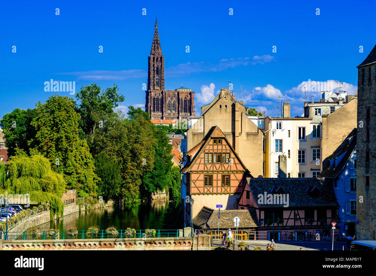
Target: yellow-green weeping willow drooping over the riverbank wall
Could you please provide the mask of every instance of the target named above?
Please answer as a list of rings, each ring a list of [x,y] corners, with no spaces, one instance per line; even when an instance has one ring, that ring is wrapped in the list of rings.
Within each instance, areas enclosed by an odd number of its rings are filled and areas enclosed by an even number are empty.
[[[0,169],[1,170],[1,169]],[[9,175],[1,193],[30,195],[30,201],[50,202],[50,218],[61,217],[64,203],[61,197],[65,192],[66,182],[63,176],[53,172],[50,161],[42,155],[14,156],[9,160]]]

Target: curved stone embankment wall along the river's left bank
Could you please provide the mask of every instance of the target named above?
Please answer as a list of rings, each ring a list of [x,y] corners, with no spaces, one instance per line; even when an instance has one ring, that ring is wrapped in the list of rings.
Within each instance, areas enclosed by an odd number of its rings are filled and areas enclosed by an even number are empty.
[[[90,206],[88,209],[109,207],[112,205],[113,205],[113,201],[108,201],[107,203],[105,202],[97,203],[93,206]],[[72,203],[64,207],[64,216],[75,213],[75,212],[79,212],[79,211],[85,211],[85,210],[86,210],[85,205],[82,205],[81,210],[80,210],[79,205],[77,205],[76,203]],[[56,216],[55,216],[55,219],[56,219]],[[49,210],[43,211],[41,213],[27,217],[21,222],[18,222],[12,229],[9,229],[8,231],[9,232],[24,232],[31,227],[38,226],[38,225],[41,225],[42,223],[46,223],[49,221],[50,221],[50,211]]]

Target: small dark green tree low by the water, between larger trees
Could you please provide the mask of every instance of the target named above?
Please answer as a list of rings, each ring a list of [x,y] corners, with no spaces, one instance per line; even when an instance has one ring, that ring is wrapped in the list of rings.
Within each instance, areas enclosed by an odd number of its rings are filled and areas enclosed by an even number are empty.
[[[96,173],[102,179],[98,185],[98,195],[107,201],[115,199],[120,190],[120,166],[116,161],[111,161],[104,154],[100,154],[96,160]]]

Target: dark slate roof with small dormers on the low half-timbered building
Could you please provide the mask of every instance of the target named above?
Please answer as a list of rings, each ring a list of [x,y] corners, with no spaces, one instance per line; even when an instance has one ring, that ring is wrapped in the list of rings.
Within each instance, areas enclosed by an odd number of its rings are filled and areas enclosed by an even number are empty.
[[[258,195],[271,194],[274,187],[281,186],[289,195],[288,207],[338,206],[332,181],[323,178],[247,178],[247,182],[255,198]],[[309,192],[317,186],[321,191],[318,196]],[[311,188],[311,189],[308,189]],[[259,204],[259,207],[283,207],[281,204]]]

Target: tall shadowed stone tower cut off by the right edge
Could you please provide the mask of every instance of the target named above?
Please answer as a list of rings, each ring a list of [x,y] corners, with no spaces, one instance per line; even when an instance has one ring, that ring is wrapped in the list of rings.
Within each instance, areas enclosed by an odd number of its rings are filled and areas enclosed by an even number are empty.
[[[376,231],[376,45],[358,68],[356,145],[357,240],[375,240]],[[360,198],[359,198],[360,197]]]

